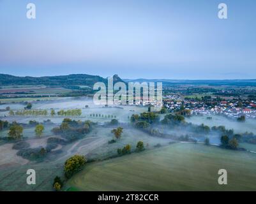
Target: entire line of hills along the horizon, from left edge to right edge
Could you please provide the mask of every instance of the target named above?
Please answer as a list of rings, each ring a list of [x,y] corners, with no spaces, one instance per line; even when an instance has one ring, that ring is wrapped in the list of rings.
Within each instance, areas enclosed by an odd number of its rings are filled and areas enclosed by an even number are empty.
[[[167,80],[167,79],[144,79],[136,80],[121,79],[118,75],[113,76],[114,84],[116,82],[162,82],[166,85],[237,85],[237,86],[256,86],[256,79],[246,80]],[[15,77],[13,75],[0,74],[0,86],[3,85],[54,85],[54,86],[72,86],[87,85],[93,87],[96,82],[107,84],[107,78],[96,75],[64,75],[54,77]]]

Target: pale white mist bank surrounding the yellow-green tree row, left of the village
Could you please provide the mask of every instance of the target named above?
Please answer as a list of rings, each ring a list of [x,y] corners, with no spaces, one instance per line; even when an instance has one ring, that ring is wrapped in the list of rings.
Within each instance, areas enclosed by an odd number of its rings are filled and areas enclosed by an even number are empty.
[[[121,106],[121,105],[111,105],[105,107],[104,105],[95,105],[92,98],[87,97],[77,97],[77,98],[61,98],[57,100],[49,101],[33,101],[33,110],[47,110],[47,116],[38,116],[36,120],[43,122],[46,118],[54,123],[61,123],[63,117],[56,115],[55,117],[50,116],[50,110],[53,109],[56,112],[59,110],[68,110],[68,109],[81,109],[82,115],[79,117],[70,117],[72,119],[88,119],[93,122],[106,122],[113,118],[119,120],[119,122],[128,122],[132,114],[146,112],[147,107],[142,106]],[[7,106],[10,106],[11,110],[24,110],[26,107],[25,103],[9,103],[0,105],[0,109],[5,109]],[[0,117],[10,121],[19,121],[19,122],[29,122],[29,120],[34,119],[33,116],[10,116],[8,111],[0,112]]]

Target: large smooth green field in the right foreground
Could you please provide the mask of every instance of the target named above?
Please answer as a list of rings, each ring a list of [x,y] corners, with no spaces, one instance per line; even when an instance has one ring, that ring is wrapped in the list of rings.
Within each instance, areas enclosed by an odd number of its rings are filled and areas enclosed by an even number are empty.
[[[176,143],[87,164],[66,187],[81,191],[255,191],[256,154]],[[218,184],[218,170],[228,185]]]

